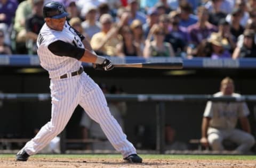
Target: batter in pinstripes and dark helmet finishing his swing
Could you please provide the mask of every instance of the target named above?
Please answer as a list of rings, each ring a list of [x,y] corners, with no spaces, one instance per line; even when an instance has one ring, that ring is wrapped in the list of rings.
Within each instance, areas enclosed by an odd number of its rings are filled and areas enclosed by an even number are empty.
[[[108,140],[121,152],[125,161],[141,163],[142,158],[110,114],[101,89],[81,65],[82,62],[94,63],[95,68],[108,71],[113,69],[113,64],[107,58],[91,52],[88,41],[66,21],[68,13],[62,4],[45,4],[43,14],[45,24],[37,39],[37,53],[41,66],[49,72],[51,79],[51,120],[20,150],[17,161],[27,161],[29,156],[49,144],[66,127],[79,104],[100,124]]]

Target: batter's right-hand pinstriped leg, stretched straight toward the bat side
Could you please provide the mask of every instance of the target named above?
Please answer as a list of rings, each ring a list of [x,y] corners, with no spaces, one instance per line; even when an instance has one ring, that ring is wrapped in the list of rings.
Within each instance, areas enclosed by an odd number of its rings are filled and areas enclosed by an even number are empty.
[[[86,82],[84,82],[85,86],[79,104],[91,119],[100,124],[108,140],[118,152],[121,152],[124,158],[136,154],[134,146],[126,139],[122,128],[111,115],[100,87],[86,74],[83,75],[83,78]]]

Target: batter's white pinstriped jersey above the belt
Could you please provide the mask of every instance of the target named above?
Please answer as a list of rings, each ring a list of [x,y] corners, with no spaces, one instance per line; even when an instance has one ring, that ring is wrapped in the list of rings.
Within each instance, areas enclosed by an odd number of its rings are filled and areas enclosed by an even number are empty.
[[[50,78],[60,77],[67,72],[77,71],[82,64],[82,62],[76,60],[76,58],[54,55],[48,49],[48,46],[57,40],[62,40],[77,47],[84,48],[81,39],[77,36],[74,29],[69,26],[67,21],[62,31],[50,29],[45,23],[38,35],[37,54],[41,66],[49,72]]]

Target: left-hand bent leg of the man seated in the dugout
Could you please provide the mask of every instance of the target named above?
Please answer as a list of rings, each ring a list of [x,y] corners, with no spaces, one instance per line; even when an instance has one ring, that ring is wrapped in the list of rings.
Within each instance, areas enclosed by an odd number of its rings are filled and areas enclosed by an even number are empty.
[[[215,128],[209,128],[207,131],[207,139],[209,142],[209,145],[211,146],[212,150],[221,151],[224,150],[224,147],[222,145],[223,140],[223,133]]]

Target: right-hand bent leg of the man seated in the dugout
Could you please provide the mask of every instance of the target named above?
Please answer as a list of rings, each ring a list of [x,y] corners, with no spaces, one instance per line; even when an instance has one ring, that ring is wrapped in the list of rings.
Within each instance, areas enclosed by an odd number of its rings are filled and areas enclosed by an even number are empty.
[[[239,129],[231,131],[229,139],[238,145],[236,150],[242,153],[249,152],[255,143],[255,139],[250,133]]]

